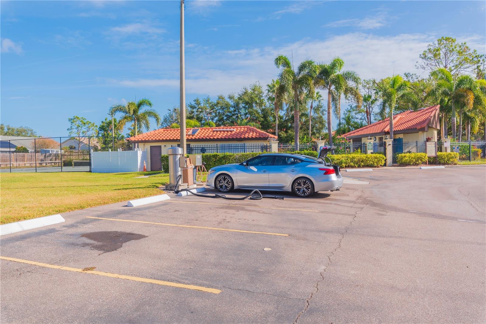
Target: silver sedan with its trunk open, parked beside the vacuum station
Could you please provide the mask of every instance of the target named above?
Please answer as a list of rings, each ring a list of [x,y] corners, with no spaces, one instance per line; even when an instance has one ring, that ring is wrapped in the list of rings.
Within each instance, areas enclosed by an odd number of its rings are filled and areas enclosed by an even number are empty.
[[[315,191],[343,186],[339,167],[307,155],[267,153],[240,164],[225,164],[208,171],[208,186],[221,192],[232,189],[293,191],[307,197]]]

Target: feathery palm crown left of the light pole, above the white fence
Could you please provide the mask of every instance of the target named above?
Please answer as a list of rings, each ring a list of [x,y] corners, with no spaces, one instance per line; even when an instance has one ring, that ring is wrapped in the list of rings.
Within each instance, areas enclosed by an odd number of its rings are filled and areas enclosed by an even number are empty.
[[[127,122],[131,122],[135,136],[138,131],[143,132],[144,129],[150,129],[150,119],[155,119],[157,127],[160,125],[160,115],[155,109],[145,109],[144,107],[152,107],[152,102],[148,99],[140,99],[138,102],[127,102],[125,105],[114,104],[110,108],[110,114],[122,113],[121,119],[118,121],[118,129],[121,131]]]

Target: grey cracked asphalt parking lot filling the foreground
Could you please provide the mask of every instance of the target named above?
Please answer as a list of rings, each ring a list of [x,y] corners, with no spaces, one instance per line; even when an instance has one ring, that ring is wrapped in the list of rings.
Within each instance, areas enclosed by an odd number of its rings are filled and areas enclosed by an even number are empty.
[[[171,193],[2,236],[0,321],[485,323],[486,168],[344,173],[369,184]]]

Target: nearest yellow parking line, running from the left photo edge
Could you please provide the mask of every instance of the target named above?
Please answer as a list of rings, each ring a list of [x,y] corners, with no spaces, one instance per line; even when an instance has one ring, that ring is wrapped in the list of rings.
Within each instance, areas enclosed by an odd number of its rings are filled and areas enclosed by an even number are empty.
[[[123,275],[123,274],[117,274],[117,273],[107,273],[107,272],[94,271],[94,270],[83,271],[83,269],[70,268],[70,267],[64,267],[64,266],[56,266],[56,265],[53,265],[53,264],[47,264],[47,263],[42,263],[42,262],[35,262],[35,261],[17,259],[15,257],[0,256],[0,259],[2,259],[2,260],[8,260],[8,261],[14,261],[14,262],[20,262],[20,263],[32,264],[32,265],[39,266],[39,267],[53,268],[53,269],[67,270],[67,271],[74,271],[74,272],[81,272],[81,273],[97,274],[97,275],[103,275],[105,277],[119,278],[119,279],[127,279],[127,280],[139,281],[139,282],[146,282],[146,283],[149,283],[149,284],[156,284],[156,285],[162,285],[162,286],[171,286],[171,287],[176,287],[176,288],[186,288],[186,289],[199,290],[199,291],[211,292],[211,293],[220,293],[222,291],[222,290],[214,289],[214,288],[207,288],[207,287],[202,287],[202,286],[179,284],[179,283],[171,282],[171,281],[164,281],[164,280],[157,280],[157,279],[134,277],[132,275]]]

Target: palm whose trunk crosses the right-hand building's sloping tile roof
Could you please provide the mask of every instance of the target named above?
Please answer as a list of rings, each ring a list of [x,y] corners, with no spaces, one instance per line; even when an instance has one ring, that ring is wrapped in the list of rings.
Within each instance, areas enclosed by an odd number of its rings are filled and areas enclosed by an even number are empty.
[[[397,99],[410,93],[410,83],[399,75],[386,78],[380,84],[376,84],[382,96],[382,110],[388,111],[390,119],[390,139],[393,139],[393,109],[397,105]]]

